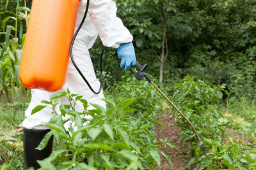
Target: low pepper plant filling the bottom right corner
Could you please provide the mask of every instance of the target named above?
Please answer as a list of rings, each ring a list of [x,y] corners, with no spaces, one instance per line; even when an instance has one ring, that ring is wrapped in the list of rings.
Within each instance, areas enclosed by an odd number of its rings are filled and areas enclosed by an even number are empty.
[[[243,145],[236,139],[228,139],[223,143],[221,139],[203,138],[207,146],[207,152],[196,153],[196,157],[189,160],[189,164],[200,162],[200,169],[255,169],[255,147]],[[199,147],[196,149],[200,150]]]

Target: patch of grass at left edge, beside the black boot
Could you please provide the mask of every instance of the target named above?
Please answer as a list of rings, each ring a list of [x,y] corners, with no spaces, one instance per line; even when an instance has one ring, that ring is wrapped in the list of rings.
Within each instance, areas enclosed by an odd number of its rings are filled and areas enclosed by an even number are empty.
[[[15,99],[13,103],[0,101],[0,165],[9,164],[8,169],[25,169],[23,154],[24,111],[30,97]]]

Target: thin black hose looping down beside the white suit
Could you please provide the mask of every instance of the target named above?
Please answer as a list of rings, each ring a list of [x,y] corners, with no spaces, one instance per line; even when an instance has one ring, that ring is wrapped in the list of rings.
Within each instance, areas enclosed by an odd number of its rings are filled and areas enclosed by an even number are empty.
[[[70,45],[70,59],[72,60],[72,63],[74,64],[74,66],[76,67],[78,73],[81,75],[81,77],[83,78],[83,80],[85,81],[85,83],[88,85],[88,87],[90,88],[90,90],[92,90],[92,92],[94,94],[99,94],[101,89],[102,89],[102,84],[103,84],[103,81],[102,81],[102,55],[104,53],[104,50],[106,50],[106,46],[104,46],[104,48],[102,49],[102,52],[100,53],[100,88],[98,90],[98,92],[95,92],[93,89],[92,89],[92,86],[90,85],[90,83],[86,80],[86,78],[84,77],[83,73],[80,71],[79,67],[76,65],[76,62],[73,58],[73,54],[72,54],[72,48],[73,48],[73,45],[74,45],[74,41],[76,39],[76,36],[78,34],[78,32],[80,31],[81,27],[83,26],[84,24],[84,20],[86,18],[86,15],[88,13],[88,9],[89,9],[89,3],[90,3],[90,0],[87,0],[87,4],[86,4],[86,10],[84,12],[84,17],[83,17],[83,20],[81,21],[81,24],[79,25],[79,27],[77,28],[75,34],[74,34],[74,37],[72,39],[72,42],[71,42],[71,45]]]

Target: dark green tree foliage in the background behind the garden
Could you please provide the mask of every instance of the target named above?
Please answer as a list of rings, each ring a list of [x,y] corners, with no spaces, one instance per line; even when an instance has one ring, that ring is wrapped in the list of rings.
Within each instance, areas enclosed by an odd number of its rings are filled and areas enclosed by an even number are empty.
[[[153,50],[161,50],[164,25],[161,13],[168,11],[166,87],[170,89],[184,76],[199,76],[198,79],[211,84],[227,83],[231,96],[255,98],[255,0],[117,0],[116,3],[118,17],[134,36],[137,60],[147,63],[148,73],[156,78],[160,62]],[[115,59],[116,56],[111,57],[106,65],[112,67],[111,75],[120,80],[122,73],[118,72]]]

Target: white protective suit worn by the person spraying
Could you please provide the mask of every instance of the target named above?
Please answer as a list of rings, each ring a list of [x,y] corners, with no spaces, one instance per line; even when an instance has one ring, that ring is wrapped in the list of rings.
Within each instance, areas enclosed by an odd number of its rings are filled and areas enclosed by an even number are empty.
[[[76,29],[83,19],[85,7],[86,4],[85,6],[82,6],[81,3],[79,3]],[[99,89],[100,83],[95,76],[88,49],[92,48],[98,34],[103,45],[108,47],[118,48],[121,43],[129,43],[132,41],[132,35],[124,27],[120,18],[116,17],[116,10],[114,1],[91,0],[86,20],[74,42],[74,60],[95,90]],[[104,98],[102,91],[100,94],[93,94],[86,83],[84,83],[83,78],[81,78],[71,60],[68,64],[67,80],[60,91],[67,89],[74,94],[84,96],[84,99],[86,99],[88,103],[99,104],[106,108],[106,103],[101,100]],[[22,127],[35,130],[49,129],[45,123],[49,122],[53,116],[52,109],[47,107],[33,115],[31,115],[31,111],[36,106],[42,105],[41,101],[49,101],[52,94],[52,92],[47,92],[45,90],[31,90],[31,103],[29,103],[28,109],[25,111],[26,119],[22,122]],[[61,99],[61,103],[67,103],[67,100]],[[93,107],[89,106],[88,110],[90,109],[93,109]],[[76,110],[82,111],[83,104],[77,103]]]

